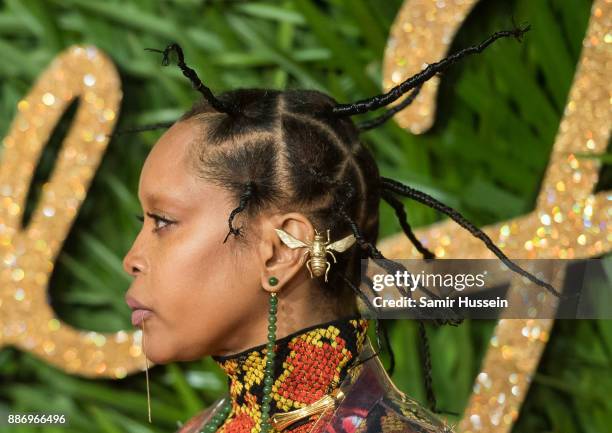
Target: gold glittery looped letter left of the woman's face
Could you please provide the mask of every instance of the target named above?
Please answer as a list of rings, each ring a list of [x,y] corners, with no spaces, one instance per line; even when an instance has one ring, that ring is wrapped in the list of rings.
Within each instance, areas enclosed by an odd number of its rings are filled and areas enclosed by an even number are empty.
[[[25,199],[56,123],[80,98],[71,129],[26,227]],[[67,372],[123,378],[144,368],[141,332],[98,333],[62,322],[47,303],[55,260],[106,150],[122,98],[114,65],[93,46],[58,55],[4,138],[0,161],[0,347],[13,345]]]

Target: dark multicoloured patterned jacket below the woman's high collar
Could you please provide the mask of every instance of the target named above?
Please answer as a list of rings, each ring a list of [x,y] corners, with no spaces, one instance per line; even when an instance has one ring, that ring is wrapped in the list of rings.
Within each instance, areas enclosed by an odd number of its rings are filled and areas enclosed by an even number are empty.
[[[453,433],[443,419],[397,389],[378,357],[371,357],[374,353],[366,338],[359,359],[367,361],[346,376],[339,386],[344,398],[318,415],[308,433]],[[176,433],[200,432],[227,398],[219,398]],[[283,433],[291,431],[289,426]]]

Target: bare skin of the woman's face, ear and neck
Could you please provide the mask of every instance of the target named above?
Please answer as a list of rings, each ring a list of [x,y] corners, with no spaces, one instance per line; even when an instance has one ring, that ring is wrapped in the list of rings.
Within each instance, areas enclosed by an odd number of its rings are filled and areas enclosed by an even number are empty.
[[[339,317],[322,308],[329,304],[310,278],[304,249],[290,249],[274,231],[312,240],[314,227],[304,214],[269,210],[248,226],[236,218],[247,243],[232,235],[223,243],[237,201],[191,168],[190,146],[201,139],[198,122],[177,122],[147,156],[138,186],[144,224],[123,260],[134,277],[126,298],[152,311],[144,319],[145,349],[159,364],[265,344],[270,292],[279,298],[277,338]]]

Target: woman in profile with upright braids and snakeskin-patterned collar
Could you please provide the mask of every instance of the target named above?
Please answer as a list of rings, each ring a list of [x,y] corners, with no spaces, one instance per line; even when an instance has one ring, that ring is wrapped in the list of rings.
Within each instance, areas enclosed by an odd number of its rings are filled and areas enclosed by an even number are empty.
[[[164,64],[177,52],[204,99],[172,124],[143,166],[138,196],[146,217],[124,259],[134,276],[126,300],[148,359],[212,355],[229,391],[179,432],[451,431],[393,385],[357,299],[364,298],[361,259],[384,258],[375,247],[381,198],[396,210],[400,194],[460,216],[381,178],[350,116],[410,89],[413,99],[462,55],[524,31],[497,32],[385,95],[346,105],[311,90],[238,89],[217,97],[178,45],[163,52]],[[296,248],[315,236],[342,241],[333,258]]]

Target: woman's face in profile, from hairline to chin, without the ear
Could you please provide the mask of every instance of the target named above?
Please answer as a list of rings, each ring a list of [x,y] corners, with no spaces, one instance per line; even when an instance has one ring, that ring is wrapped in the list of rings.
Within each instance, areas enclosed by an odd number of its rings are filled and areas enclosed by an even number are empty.
[[[185,159],[199,136],[193,120],[178,122],[149,153],[138,186],[144,223],[123,261],[134,277],[126,300],[151,310],[145,349],[155,363],[240,349],[230,334],[249,341],[252,324],[265,319],[259,263],[241,259],[248,252],[233,235],[223,243],[237,203]]]

